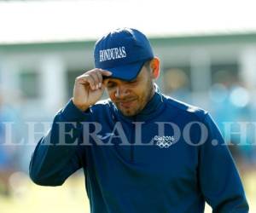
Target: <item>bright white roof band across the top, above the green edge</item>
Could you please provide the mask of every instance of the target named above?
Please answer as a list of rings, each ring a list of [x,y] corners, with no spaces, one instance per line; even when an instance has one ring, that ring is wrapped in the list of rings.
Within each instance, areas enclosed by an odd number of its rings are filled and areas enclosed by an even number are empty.
[[[148,37],[256,32],[252,2],[185,0],[11,1],[0,3],[0,44],[96,40],[114,28]]]

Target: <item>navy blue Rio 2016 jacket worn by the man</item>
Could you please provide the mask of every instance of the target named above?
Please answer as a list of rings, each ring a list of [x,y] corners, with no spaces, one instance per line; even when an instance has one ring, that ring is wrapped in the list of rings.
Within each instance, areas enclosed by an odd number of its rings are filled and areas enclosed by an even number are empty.
[[[80,168],[91,213],[201,213],[205,201],[216,213],[248,212],[236,165],[210,115],[160,92],[134,117],[109,100],[86,112],[69,101],[38,142],[30,176],[59,186]]]

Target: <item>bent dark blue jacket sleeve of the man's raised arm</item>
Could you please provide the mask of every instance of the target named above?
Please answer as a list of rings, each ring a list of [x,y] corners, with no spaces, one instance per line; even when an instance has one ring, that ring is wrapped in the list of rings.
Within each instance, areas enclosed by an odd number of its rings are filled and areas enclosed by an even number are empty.
[[[32,154],[29,166],[32,181],[42,186],[60,186],[68,176],[85,166],[80,122],[86,116],[88,114],[75,107],[73,101],[55,115],[51,129]]]

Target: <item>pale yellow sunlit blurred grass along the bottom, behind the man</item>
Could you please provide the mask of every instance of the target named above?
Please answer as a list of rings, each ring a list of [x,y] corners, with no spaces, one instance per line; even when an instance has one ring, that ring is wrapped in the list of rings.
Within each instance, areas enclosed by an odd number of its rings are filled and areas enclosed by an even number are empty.
[[[242,176],[247,199],[250,203],[250,212],[256,212],[253,200],[256,200],[256,171]],[[73,176],[61,187],[39,187],[29,178],[16,173],[10,178],[12,196],[0,196],[1,213],[89,213],[89,202],[84,188],[84,177]],[[206,212],[212,212],[209,206]]]

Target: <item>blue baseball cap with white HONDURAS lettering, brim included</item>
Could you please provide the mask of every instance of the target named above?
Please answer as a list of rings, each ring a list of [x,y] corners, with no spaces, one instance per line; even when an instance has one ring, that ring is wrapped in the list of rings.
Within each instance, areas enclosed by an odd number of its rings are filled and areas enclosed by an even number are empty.
[[[136,29],[119,28],[100,38],[94,49],[95,67],[112,72],[110,78],[131,81],[147,60],[154,58],[148,38]]]

